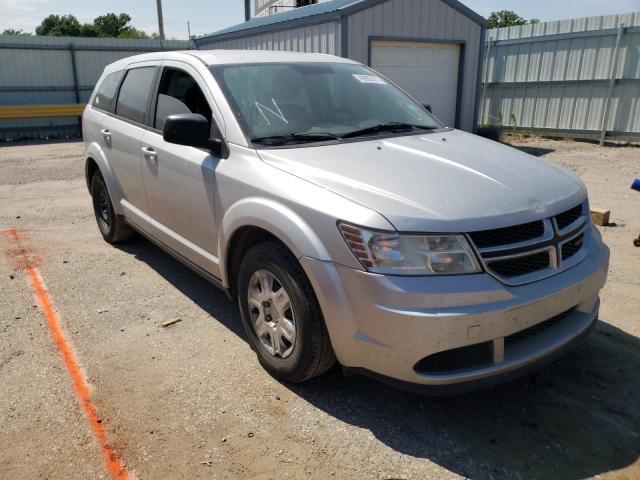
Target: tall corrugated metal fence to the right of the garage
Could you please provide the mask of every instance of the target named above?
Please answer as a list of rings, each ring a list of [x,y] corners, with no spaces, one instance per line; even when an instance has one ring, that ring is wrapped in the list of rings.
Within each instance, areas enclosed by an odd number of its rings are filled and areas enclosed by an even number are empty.
[[[486,38],[481,123],[600,139],[604,122],[607,138],[640,139],[640,12]]]

